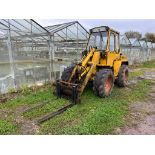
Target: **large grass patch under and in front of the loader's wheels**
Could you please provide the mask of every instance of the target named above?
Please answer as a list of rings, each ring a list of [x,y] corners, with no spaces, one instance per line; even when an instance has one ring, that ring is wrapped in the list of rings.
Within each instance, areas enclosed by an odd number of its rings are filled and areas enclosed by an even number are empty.
[[[88,86],[82,103],[43,123],[40,134],[111,134],[124,124],[129,103],[146,98],[151,84],[144,80],[133,85],[132,90],[115,87],[111,96],[104,99],[95,96]]]

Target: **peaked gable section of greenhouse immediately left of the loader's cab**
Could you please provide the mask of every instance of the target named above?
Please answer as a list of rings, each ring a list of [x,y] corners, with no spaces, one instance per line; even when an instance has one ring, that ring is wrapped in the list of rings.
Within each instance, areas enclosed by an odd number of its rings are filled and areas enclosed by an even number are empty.
[[[53,73],[56,79],[61,76],[63,67],[81,59],[81,52],[86,48],[88,32],[78,21],[47,26],[45,29],[52,35]]]

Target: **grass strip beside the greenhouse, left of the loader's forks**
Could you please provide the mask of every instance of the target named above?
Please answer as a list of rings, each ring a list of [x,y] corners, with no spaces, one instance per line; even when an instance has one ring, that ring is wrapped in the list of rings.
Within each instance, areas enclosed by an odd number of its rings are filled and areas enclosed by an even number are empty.
[[[32,88],[28,89],[29,88],[24,88],[16,94],[15,98],[0,104],[0,109],[3,109],[8,113],[5,121],[0,120],[0,134],[20,133],[19,124],[15,121],[16,108],[22,106],[30,107],[32,104],[37,104],[38,102],[53,99],[55,97],[51,85],[45,85],[36,90],[33,90]]]

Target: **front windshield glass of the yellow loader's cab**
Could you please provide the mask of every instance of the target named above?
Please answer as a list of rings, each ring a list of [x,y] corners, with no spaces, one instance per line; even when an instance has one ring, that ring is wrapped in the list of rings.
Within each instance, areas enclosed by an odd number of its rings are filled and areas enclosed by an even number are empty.
[[[107,31],[92,33],[89,38],[87,50],[89,50],[91,47],[97,47],[97,49],[99,50],[106,50],[107,39],[108,39]]]

